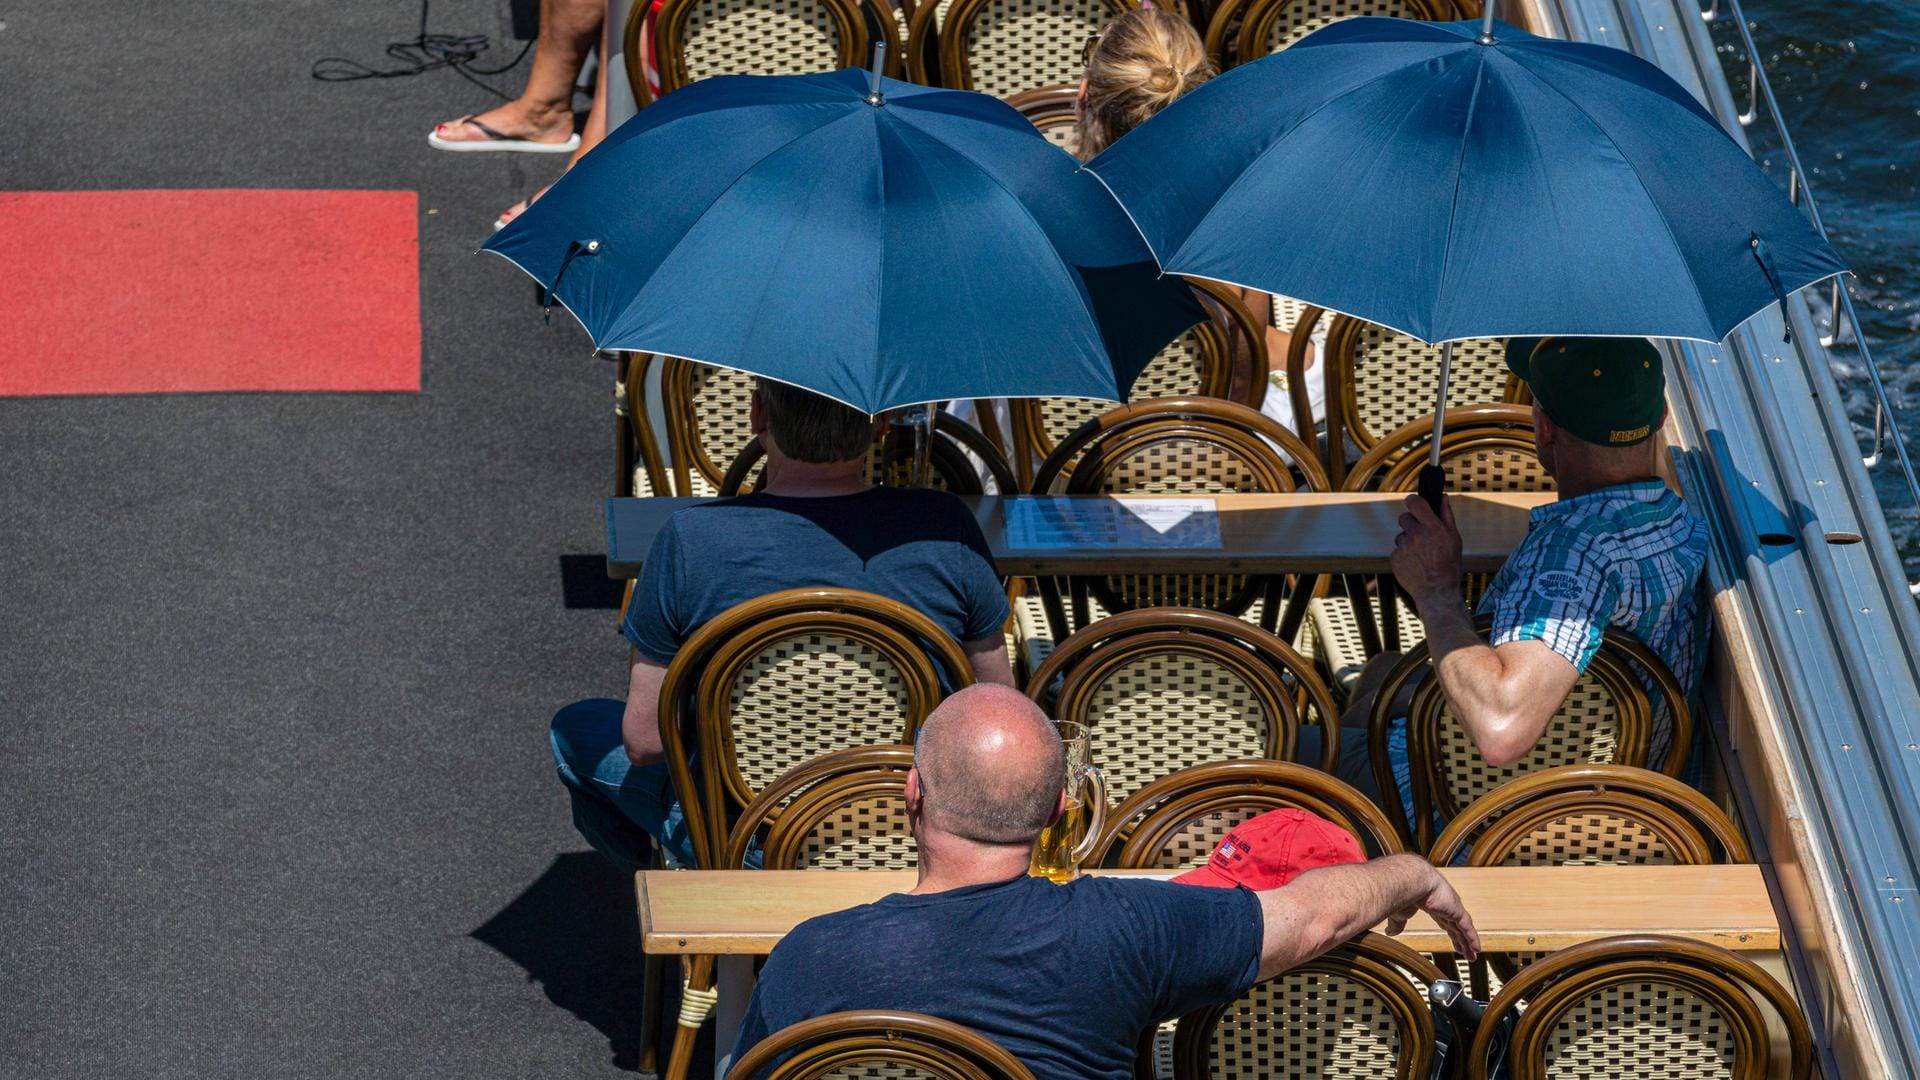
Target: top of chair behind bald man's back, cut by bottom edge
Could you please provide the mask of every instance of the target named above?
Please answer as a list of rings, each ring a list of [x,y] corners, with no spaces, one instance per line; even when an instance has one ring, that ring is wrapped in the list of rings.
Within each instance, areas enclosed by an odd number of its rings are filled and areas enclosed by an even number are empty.
[[[785,1061],[780,1061],[785,1057]],[[774,1065],[780,1061],[780,1065]],[[1033,1080],[1000,1043],[920,1013],[828,1013],[781,1028],[739,1055],[730,1080],[910,1076]]]

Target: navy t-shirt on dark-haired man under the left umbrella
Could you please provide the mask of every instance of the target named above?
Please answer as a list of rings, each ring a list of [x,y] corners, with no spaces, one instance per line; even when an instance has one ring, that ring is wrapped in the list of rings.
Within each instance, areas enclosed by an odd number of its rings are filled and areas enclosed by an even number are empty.
[[[1006,590],[966,503],[925,488],[868,488],[755,492],[682,509],[653,538],[620,628],[639,655],[664,665],[728,607],[822,586],[899,600],[958,642],[1006,623]]]

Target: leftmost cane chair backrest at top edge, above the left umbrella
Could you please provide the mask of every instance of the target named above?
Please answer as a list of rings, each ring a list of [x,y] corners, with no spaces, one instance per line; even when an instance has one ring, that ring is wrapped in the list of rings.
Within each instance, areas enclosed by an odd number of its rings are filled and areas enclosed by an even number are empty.
[[[641,67],[651,4],[626,21],[626,71],[641,106],[653,100]],[[653,38],[660,92],[712,75],[808,75],[872,63],[876,35],[887,42],[889,73],[900,56],[895,15],[858,0],[666,0]]]

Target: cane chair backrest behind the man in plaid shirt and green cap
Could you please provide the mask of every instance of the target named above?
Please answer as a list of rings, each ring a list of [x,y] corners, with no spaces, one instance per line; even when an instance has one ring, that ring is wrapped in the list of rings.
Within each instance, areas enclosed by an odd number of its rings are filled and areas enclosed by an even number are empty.
[[[1475,626],[1484,638],[1492,619],[1482,615]],[[1427,642],[1421,642],[1386,675],[1369,724],[1373,771],[1380,782],[1380,794],[1392,803],[1400,801],[1400,786],[1392,778],[1392,763],[1386,755],[1392,721],[1388,713],[1400,688],[1417,678],[1428,663],[1427,648]],[[1413,692],[1413,703],[1407,709],[1407,759],[1413,767],[1411,847],[1415,851],[1432,849],[1434,815],[1452,821],[1475,799],[1519,776],[1555,765],[1645,769],[1653,742],[1655,701],[1642,680],[1651,682],[1667,703],[1672,738],[1661,771],[1678,776],[1693,734],[1686,692],[1661,657],[1626,630],[1607,628],[1594,661],[1574,682],[1567,701],[1548,721],[1546,734],[1526,757],[1513,765],[1494,767],[1482,761],[1480,751],[1453,715],[1453,705],[1440,690],[1440,680],[1425,678]],[[1407,819],[1407,815],[1400,817]]]

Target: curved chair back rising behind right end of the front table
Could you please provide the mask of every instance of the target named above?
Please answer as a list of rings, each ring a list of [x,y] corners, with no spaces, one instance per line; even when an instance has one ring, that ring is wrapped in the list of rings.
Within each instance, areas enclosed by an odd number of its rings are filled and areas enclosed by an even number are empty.
[[[1753,861],[1740,828],[1707,796],[1630,765],[1561,765],[1480,796],[1427,857],[1446,867],[1463,849],[1469,867]]]

